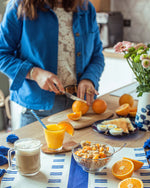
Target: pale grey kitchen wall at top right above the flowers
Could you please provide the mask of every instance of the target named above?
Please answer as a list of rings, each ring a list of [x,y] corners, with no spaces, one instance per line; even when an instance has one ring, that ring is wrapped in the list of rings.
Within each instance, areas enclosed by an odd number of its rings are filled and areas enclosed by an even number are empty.
[[[150,42],[150,0],[111,0],[111,10],[131,20],[131,27],[124,27],[124,40]]]

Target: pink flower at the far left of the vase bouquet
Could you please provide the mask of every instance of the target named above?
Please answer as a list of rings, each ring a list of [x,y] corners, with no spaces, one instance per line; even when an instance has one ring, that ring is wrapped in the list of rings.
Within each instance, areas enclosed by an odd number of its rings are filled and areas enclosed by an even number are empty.
[[[117,53],[121,53],[121,52],[125,52],[128,51],[128,49],[132,46],[131,42],[128,41],[123,41],[123,42],[118,42],[115,46],[115,52]]]

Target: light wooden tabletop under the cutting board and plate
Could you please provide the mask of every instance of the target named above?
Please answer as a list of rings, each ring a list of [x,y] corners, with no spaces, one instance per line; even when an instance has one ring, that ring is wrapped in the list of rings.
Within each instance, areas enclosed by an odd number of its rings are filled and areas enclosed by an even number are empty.
[[[106,94],[104,96],[101,97],[102,99],[104,99],[108,105],[108,109],[112,110],[113,112],[115,112],[115,109],[118,107],[118,97],[115,96],[111,96],[109,94]],[[137,101],[135,101],[135,104],[137,103]],[[65,113],[65,111],[60,112],[60,113]],[[114,113],[114,118],[116,117],[115,113]],[[43,119],[44,123],[47,123],[47,118]],[[45,144],[45,139],[44,139],[44,133],[43,133],[43,128],[42,126],[38,123],[32,123],[29,124],[25,127],[22,127],[20,129],[17,129],[11,133],[7,133],[4,136],[2,136],[0,138],[0,145],[4,145],[7,147],[13,147],[13,144],[9,144],[6,142],[6,137],[9,134],[16,134],[17,136],[19,136],[19,138],[36,138],[41,140],[41,142],[43,144]],[[111,144],[114,147],[119,147],[121,145],[123,145],[123,143],[127,143],[126,147],[143,147],[144,142],[149,139],[150,137],[150,133],[149,132],[143,132],[143,131],[138,131],[137,134],[133,134],[133,135],[129,135],[129,136],[124,136],[124,137],[109,137],[103,134],[99,134],[97,132],[95,132],[91,127],[87,127],[84,129],[80,129],[80,130],[75,130],[75,134],[73,137],[71,137],[70,135],[66,134],[65,135],[65,142],[69,141],[69,140],[73,140],[76,142],[80,142],[81,140],[95,140],[95,141],[101,141],[101,142],[106,142],[108,144]],[[8,165],[4,165],[1,166],[1,168],[8,168]],[[1,179],[0,179],[1,180]]]

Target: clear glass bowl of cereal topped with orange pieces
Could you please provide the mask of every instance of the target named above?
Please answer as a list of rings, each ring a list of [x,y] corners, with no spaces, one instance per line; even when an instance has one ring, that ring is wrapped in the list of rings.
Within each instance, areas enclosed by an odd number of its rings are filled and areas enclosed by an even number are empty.
[[[72,148],[75,161],[82,169],[89,173],[101,171],[107,166],[115,149],[106,143],[82,141]]]

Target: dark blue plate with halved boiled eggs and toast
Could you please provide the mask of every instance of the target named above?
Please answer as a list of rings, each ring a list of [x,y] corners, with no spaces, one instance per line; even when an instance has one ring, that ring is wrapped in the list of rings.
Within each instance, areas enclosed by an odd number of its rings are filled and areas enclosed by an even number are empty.
[[[117,137],[135,134],[138,130],[129,118],[100,120],[93,123],[92,128],[98,133]]]

